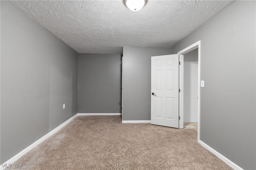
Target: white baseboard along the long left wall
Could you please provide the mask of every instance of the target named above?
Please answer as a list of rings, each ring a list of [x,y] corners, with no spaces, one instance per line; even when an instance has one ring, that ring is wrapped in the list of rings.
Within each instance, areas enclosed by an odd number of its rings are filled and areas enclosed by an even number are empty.
[[[24,154],[26,154],[28,151],[30,151],[31,149],[33,149],[34,147],[36,147],[36,145],[40,144],[42,141],[44,141],[45,139],[47,139],[48,137],[50,137],[52,134],[54,134],[55,132],[57,132],[58,130],[60,130],[62,127],[64,127],[67,123],[69,123],[72,119],[74,119],[77,116],[74,115],[72,116],[70,119],[66,120],[64,123],[62,123],[61,125],[59,125],[58,127],[56,127],[55,129],[53,129],[52,131],[50,131],[49,133],[47,133],[46,135],[44,135],[43,137],[41,137],[40,139],[38,139],[36,142],[32,143],[30,146],[28,146],[26,149],[22,150],[20,153],[16,154],[15,156],[13,156],[12,158],[10,158],[9,160],[7,160],[6,162],[4,162],[3,164],[6,164],[7,166],[9,164],[12,164],[13,162],[15,162],[16,160],[18,160],[21,156],[23,156]],[[0,165],[0,170],[5,169],[5,167],[2,167],[2,164]]]

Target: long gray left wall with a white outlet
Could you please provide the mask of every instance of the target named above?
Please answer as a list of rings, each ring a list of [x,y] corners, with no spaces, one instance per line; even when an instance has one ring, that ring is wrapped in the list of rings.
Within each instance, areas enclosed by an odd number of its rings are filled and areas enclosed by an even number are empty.
[[[0,3],[2,164],[77,113],[78,53]]]

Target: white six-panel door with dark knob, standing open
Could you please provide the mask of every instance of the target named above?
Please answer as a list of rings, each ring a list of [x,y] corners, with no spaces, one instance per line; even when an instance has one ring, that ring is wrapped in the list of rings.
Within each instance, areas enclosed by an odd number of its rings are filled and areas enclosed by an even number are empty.
[[[179,128],[179,55],[151,57],[151,124]]]

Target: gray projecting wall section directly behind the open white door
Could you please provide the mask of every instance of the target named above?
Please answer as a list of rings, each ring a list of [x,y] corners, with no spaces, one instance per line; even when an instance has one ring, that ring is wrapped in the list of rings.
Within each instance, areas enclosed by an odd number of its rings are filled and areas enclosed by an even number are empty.
[[[123,47],[123,120],[150,120],[151,57],[171,48]]]

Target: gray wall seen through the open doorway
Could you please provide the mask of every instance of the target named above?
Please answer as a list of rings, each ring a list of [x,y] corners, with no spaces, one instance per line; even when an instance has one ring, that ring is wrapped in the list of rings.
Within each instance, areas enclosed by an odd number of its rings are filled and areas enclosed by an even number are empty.
[[[198,49],[184,55],[184,122],[198,122]]]

